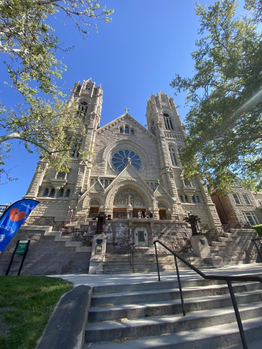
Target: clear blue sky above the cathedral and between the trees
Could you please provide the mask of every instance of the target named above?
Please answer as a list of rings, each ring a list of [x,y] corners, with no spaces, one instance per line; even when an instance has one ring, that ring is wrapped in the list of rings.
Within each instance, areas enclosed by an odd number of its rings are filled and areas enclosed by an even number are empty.
[[[206,1],[199,1],[203,5]],[[129,113],[142,125],[146,124],[146,101],[151,92],[160,89],[174,97],[169,86],[175,73],[191,76],[194,62],[190,53],[195,50],[199,28],[193,10],[193,0],[104,0],[102,5],[115,10],[111,23],[99,22],[99,32],[90,32],[83,43],[78,31],[70,24],[61,24],[61,16],[52,21],[55,34],[65,46],[74,45],[68,53],[58,52],[67,65],[61,83],[64,91],[92,77],[103,89],[103,122]],[[3,61],[4,57],[0,57]],[[0,91],[4,105],[14,106],[18,96],[6,85],[5,67],[0,66]],[[181,105],[179,113],[184,120],[187,108],[185,96],[175,98]],[[38,161],[36,154],[29,154],[22,144],[14,141],[8,168],[12,177],[19,180],[0,185],[0,204],[20,200],[27,192]],[[95,151],[95,149],[94,149]]]

